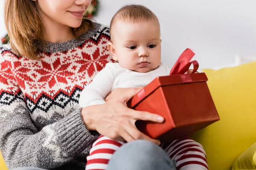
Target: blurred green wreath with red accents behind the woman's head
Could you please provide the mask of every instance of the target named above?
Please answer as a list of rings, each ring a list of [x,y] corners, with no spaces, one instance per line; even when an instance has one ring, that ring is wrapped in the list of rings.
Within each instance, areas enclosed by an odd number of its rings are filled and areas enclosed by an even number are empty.
[[[84,13],[84,17],[87,18],[92,18],[95,16],[98,12],[98,7],[99,7],[99,0],[92,0],[92,3],[90,6],[87,8],[87,10]],[[8,44],[9,43],[9,36],[6,34],[2,39],[1,39],[2,44]]]

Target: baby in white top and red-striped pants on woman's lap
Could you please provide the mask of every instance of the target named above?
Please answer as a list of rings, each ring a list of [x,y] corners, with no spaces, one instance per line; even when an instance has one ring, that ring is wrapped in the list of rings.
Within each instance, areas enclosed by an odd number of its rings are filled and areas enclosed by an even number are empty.
[[[82,108],[105,103],[105,97],[115,88],[145,86],[171,71],[161,63],[160,23],[145,6],[128,5],[119,9],[111,20],[110,35],[108,49],[116,63],[106,64],[84,88],[79,99]],[[124,143],[100,136],[87,157],[86,170],[107,169],[109,155]],[[192,139],[171,141],[161,147],[177,170],[208,170],[203,147]],[[102,157],[104,153],[108,156]]]

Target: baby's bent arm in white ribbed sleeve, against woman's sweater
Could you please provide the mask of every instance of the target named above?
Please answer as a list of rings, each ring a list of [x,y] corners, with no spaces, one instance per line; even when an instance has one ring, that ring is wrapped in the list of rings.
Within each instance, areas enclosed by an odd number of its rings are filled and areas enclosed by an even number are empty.
[[[105,103],[104,99],[111,92],[113,81],[113,69],[107,64],[81,92],[79,98],[80,107],[84,108],[89,105]]]

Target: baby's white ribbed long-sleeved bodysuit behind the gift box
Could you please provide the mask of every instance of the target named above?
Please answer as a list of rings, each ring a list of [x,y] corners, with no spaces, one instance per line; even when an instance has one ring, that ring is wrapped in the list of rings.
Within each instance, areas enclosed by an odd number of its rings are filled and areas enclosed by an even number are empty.
[[[140,73],[122,68],[119,63],[107,63],[99,71],[93,81],[81,92],[79,105],[81,108],[89,105],[105,103],[105,97],[115,88],[137,88],[148,85],[156,77],[169,75],[171,68],[160,63],[157,69]]]

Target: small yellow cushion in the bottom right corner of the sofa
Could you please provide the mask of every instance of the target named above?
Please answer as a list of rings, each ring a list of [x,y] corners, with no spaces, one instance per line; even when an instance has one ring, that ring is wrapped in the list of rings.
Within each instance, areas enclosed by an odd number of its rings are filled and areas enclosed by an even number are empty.
[[[236,159],[232,170],[256,170],[256,142]]]

